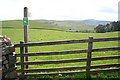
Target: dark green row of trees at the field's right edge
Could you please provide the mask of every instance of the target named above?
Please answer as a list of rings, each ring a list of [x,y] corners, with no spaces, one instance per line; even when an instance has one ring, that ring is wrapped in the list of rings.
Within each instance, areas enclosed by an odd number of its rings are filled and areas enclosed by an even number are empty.
[[[108,24],[99,24],[94,28],[97,33],[105,33],[105,32],[113,32],[113,31],[120,31],[120,21],[111,22]]]

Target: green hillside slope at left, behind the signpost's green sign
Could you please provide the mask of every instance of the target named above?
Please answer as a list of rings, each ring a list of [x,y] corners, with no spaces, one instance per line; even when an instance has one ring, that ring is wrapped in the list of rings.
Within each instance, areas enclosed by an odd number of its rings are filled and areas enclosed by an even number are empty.
[[[2,21],[2,28],[23,28],[23,22],[22,20]],[[44,23],[40,23],[37,21],[31,21],[31,20],[29,21],[29,28],[60,30],[55,25],[44,24]]]

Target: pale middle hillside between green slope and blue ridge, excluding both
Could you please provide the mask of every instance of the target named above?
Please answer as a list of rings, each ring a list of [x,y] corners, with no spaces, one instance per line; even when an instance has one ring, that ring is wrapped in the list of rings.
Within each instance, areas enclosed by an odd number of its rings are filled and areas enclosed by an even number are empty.
[[[94,25],[90,25],[80,21],[56,21],[56,20],[36,20],[45,24],[56,25],[64,30],[81,30],[94,29]]]

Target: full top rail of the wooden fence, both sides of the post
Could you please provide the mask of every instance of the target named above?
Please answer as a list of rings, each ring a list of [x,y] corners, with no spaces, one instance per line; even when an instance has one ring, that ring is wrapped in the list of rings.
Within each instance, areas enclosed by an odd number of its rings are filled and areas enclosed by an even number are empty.
[[[99,39],[93,39],[93,42],[118,41],[118,40],[120,40],[120,37],[117,37],[117,38],[99,38]],[[70,44],[70,43],[86,43],[88,41],[89,41],[89,39],[55,41],[55,42],[42,42],[42,43],[25,43],[25,44],[15,44],[14,47],[46,46],[46,45],[58,45],[58,44]]]

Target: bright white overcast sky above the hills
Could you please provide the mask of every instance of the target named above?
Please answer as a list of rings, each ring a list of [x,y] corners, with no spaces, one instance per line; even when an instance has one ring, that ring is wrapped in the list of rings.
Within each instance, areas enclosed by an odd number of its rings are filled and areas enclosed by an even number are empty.
[[[23,19],[23,8],[29,8],[29,19],[48,20],[118,20],[120,0],[0,0],[0,20]]]

